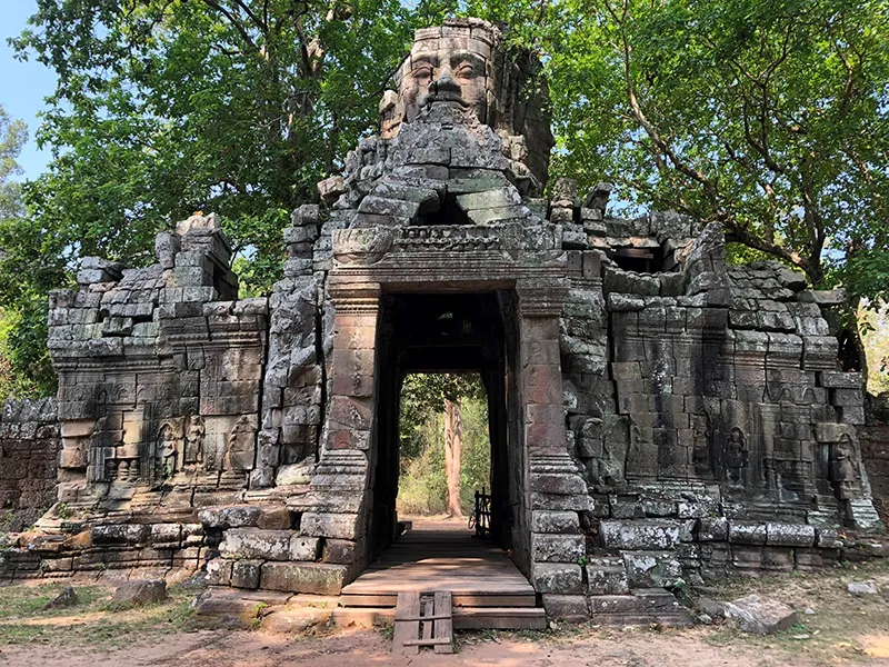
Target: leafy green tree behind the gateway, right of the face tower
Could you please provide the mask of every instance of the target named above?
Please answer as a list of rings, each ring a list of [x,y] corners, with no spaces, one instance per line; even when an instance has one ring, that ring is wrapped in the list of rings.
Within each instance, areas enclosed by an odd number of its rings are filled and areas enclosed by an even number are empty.
[[[551,46],[559,169],[723,223],[825,278],[886,247],[889,11],[858,0],[580,0]],[[592,122],[590,122],[592,120]]]

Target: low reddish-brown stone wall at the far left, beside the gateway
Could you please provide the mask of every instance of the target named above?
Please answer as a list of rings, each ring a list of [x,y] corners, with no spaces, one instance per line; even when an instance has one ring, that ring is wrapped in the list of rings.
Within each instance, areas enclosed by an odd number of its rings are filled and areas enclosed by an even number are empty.
[[[7,400],[0,415],[0,531],[24,530],[56,501],[56,399]]]

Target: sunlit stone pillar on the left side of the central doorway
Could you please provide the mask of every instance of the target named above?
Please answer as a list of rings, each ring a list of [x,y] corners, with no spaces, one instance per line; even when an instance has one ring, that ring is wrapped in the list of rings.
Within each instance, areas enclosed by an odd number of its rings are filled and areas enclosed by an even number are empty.
[[[300,532],[324,538],[338,554],[347,554],[351,578],[366,564],[370,456],[373,437],[374,346],[380,286],[339,282],[331,276],[336,309],[333,350],[329,365],[329,415],[321,460],[311,489],[300,501]],[[291,502],[291,506],[296,506]],[[294,507],[296,508],[296,507]]]

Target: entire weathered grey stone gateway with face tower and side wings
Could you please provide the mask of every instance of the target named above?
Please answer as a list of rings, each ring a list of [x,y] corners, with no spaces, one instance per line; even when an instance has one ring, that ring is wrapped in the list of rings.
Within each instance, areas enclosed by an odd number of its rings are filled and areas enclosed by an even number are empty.
[[[836,561],[880,531],[831,306],[718,225],[606,216],[559,180],[539,63],[475,19],[419,30],[284,277],[237,299],[216,216],[52,293],[58,504],[2,568],[204,569],[338,594],[398,535],[407,372],[489,396],[493,536],[550,617],[679,619],[665,589]],[[848,539],[848,538],[847,538]]]

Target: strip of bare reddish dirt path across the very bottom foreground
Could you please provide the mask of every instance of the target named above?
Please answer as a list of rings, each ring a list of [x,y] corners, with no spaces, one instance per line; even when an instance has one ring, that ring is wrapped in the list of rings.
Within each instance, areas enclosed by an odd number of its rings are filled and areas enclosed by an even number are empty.
[[[650,630],[600,631],[568,640],[522,638],[486,639],[467,635],[452,656],[422,651],[398,657],[390,644],[374,631],[356,631],[329,637],[290,639],[280,635],[247,631],[179,633],[156,641],[136,644],[97,654],[89,647],[7,646],[0,649],[0,665],[14,667],[282,667],[330,665],[370,667],[394,665],[418,667],[807,667],[809,661],[783,648],[717,646],[707,641],[707,629],[681,633]],[[886,637],[882,638],[886,641]],[[468,644],[471,641],[471,644]],[[889,655],[889,654],[886,654]],[[868,665],[889,665],[889,659],[867,658]],[[835,664],[849,664],[845,660]],[[859,663],[861,664],[861,663]]]

